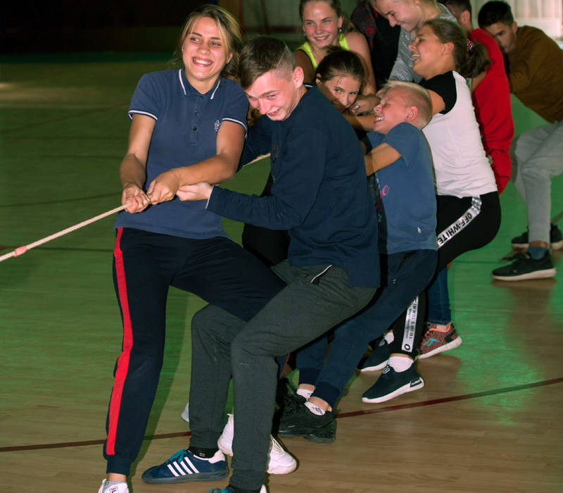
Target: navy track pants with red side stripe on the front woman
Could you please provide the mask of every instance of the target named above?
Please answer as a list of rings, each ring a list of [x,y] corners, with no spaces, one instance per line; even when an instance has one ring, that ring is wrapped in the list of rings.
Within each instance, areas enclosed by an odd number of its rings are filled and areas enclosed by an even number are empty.
[[[131,228],[117,230],[113,280],[124,332],[103,455],[106,472],[129,475],[163,365],[169,287],[250,320],[285,283],[227,237],[187,239]]]

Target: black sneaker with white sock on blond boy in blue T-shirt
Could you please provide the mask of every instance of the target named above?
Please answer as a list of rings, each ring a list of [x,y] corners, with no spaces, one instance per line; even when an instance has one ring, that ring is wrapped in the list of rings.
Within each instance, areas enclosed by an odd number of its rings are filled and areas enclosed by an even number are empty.
[[[301,397],[297,395],[296,397]],[[318,416],[309,411],[302,402],[295,401],[293,406],[286,406],[279,419],[278,435],[283,438],[303,437],[310,442],[331,443],[336,437],[334,413],[327,411]]]

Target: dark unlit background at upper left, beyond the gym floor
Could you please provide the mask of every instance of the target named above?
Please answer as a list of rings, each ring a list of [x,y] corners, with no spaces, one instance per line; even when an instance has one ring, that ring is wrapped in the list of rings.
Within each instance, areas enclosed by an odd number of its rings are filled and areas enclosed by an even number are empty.
[[[8,0],[0,12],[0,51],[161,51],[200,0]]]

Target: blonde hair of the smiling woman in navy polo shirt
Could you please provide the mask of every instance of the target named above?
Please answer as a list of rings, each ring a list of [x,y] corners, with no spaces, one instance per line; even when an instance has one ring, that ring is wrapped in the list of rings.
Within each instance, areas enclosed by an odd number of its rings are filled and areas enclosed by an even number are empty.
[[[221,71],[221,76],[238,80],[239,56],[243,46],[241,27],[231,13],[216,5],[202,5],[188,15],[186,22],[182,26],[182,31],[176,44],[175,58],[172,61],[176,63],[182,61],[182,46],[184,46],[186,37],[194,30],[196,22],[205,17],[215,21],[225,55],[227,58],[229,58],[229,55],[232,55],[229,63]]]

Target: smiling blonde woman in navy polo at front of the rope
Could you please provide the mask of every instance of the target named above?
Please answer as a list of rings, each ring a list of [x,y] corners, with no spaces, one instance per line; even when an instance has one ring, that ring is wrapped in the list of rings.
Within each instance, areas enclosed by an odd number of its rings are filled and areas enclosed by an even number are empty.
[[[129,146],[120,166],[122,204],[129,207],[115,221],[113,262],[124,335],[103,447],[108,476],[99,493],[128,492],[125,481],[163,363],[168,288],[192,292],[249,320],[284,286],[227,237],[220,216],[207,211],[205,201],[175,196],[179,185],[224,182],[236,173],[248,101],[226,77],[236,73],[240,47],[232,16],[215,6],[200,7],[179,38],[183,67],[144,75],[132,96]],[[203,476],[227,474],[220,452],[206,462]]]

